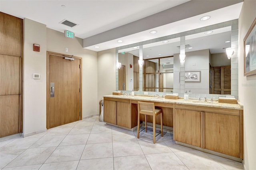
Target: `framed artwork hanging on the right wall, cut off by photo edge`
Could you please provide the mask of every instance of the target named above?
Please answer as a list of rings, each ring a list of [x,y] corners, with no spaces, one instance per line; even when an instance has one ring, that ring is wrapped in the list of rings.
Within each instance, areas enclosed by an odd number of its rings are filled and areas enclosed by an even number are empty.
[[[244,76],[256,74],[256,18],[244,37]]]

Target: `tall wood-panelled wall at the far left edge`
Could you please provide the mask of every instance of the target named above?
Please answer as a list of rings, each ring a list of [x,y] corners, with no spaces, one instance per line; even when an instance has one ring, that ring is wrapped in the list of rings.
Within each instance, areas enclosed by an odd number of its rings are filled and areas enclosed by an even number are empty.
[[[22,132],[23,20],[0,12],[0,137]]]

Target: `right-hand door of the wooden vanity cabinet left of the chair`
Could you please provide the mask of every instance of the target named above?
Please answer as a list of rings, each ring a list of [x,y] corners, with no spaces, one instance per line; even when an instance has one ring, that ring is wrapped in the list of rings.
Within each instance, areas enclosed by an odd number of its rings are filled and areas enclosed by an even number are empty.
[[[116,102],[116,125],[131,128],[130,103]]]

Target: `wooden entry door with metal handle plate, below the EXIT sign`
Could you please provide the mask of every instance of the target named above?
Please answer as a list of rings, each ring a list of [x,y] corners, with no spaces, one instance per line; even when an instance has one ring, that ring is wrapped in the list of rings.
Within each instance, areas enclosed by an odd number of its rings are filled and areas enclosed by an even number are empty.
[[[48,128],[80,120],[80,74],[80,59],[49,54]]]

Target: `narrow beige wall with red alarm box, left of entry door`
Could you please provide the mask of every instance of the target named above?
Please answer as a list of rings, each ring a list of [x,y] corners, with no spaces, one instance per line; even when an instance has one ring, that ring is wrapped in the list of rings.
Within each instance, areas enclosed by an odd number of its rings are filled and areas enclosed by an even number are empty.
[[[46,25],[24,18],[23,136],[46,130]],[[39,34],[40,33],[40,34]],[[40,52],[33,51],[40,44]],[[33,79],[39,73],[40,79]]]

